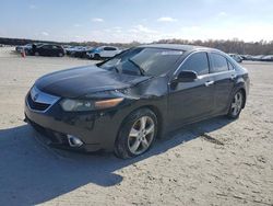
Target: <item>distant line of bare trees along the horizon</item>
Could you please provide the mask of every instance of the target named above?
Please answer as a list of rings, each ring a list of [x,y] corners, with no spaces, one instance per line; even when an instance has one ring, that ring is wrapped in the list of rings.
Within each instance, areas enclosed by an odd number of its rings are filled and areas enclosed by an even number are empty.
[[[61,44],[61,45],[72,45],[72,46],[102,46],[102,45],[112,45],[122,48],[129,48],[132,46],[140,45],[139,42],[132,42],[128,44],[122,43],[98,43],[98,42],[48,42],[48,41],[34,41],[34,39],[24,39],[24,38],[3,38],[0,37],[0,44],[3,45],[25,45],[29,43],[50,43],[50,44]],[[188,39],[161,39],[153,42],[152,44],[187,44],[187,45],[198,45],[221,49],[225,53],[235,53],[240,55],[273,55],[273,41],[260,41],[260,42],[250,42],[246,43],[237,38],[229,41],[188,41]]]

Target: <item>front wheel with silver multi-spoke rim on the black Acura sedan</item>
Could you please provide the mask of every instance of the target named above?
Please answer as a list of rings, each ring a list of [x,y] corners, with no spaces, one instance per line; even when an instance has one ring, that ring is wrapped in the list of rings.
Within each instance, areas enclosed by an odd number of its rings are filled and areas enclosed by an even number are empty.
[[[115,154],[121,159],[146,152],[157,134],[157,117],[149,108],[131,113],[121,126],[115,144]]]

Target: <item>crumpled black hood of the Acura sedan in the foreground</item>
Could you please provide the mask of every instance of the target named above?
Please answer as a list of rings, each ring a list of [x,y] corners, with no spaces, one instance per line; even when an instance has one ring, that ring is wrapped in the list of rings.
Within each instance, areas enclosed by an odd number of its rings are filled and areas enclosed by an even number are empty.
[[[80,98],[99,91],[130,88],[151,77],[129,76],[85,66],[46,75],[35,82],[43,92],[62,98]]]

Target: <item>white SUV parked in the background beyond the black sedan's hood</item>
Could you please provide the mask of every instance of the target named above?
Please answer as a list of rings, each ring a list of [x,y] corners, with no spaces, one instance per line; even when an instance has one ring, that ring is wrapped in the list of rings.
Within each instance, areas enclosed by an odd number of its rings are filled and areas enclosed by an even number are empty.
[[[99,60],[102,58],[110,58],[121,53],[118,47],[114,46],[100,46],[88,52],[86,55],[90,59]]]

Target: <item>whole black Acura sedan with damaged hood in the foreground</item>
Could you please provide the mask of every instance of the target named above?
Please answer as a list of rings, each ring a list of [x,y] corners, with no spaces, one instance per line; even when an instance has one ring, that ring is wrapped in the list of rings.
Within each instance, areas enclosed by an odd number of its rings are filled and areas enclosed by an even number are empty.
[[[248,91],[248,71],[219,50],[145,45],[41,77],[26,95],[25,116],[51,146],[130,158],[186,124],[237,118]]]

